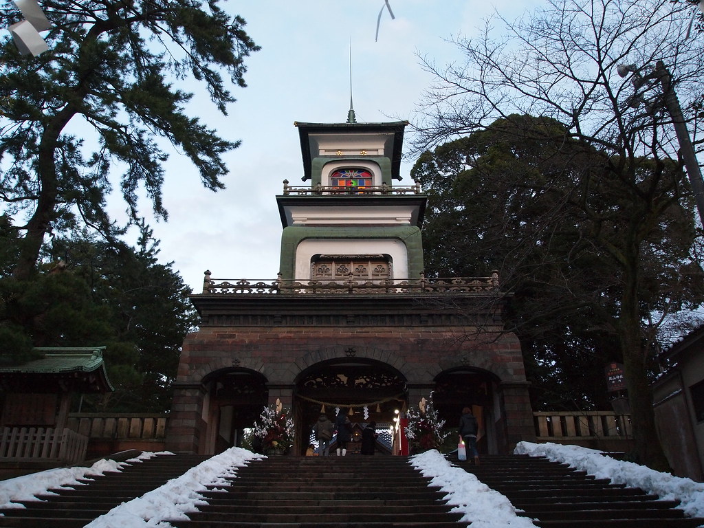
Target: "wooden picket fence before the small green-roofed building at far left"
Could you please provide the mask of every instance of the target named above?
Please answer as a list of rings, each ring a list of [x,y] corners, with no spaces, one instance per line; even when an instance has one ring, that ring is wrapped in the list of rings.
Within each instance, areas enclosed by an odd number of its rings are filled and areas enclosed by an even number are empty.
[[[88,438],[70,429],[0,428],[0,458],[52,458],[68,463],[84,460]]]

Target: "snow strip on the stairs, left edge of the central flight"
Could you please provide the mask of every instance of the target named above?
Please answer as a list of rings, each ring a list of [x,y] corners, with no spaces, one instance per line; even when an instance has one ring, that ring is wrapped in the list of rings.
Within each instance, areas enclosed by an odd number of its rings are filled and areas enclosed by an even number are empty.
[[[263,455],[239,447],[230,448],[191,467],[163,486],[115,506],[84,528],[170,527],[165,519],[187,519],[184,512],[205,504],[199,491],[205,490],[206,486],[226,486],[225,477],[234,476],[238,467],[256,458],[263,458]]]

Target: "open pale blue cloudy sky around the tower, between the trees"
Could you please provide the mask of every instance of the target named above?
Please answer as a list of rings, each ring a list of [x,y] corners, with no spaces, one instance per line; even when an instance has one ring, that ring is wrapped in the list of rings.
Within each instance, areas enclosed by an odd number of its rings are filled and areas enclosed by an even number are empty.
[[[225,156],[227,189],[217,193],[202,187],[187,158],[171,153],[163,186],[168,222],[151,218],[149,203],[142,204],[161,240],[161,260],[172,261],[194,293],[205,270],[214,279],[275,279],[282,232],[275,196],[283,180],[303,184],[294,122],[345,122],[350,77],[358,122],[411,120],[432,82],[419,55],[457,61],[448,39],[476,34],[494,8],[517,18],[539,1],[389,0],[395,19],[384,8],[377,42],[384,0],[222,2],[246,20],[261,50],[246,58],[248,86],[234,88],[237,102],[227,117],[197,93],[191,113],[241,146]],[[408,138],[407,132],[406,150]],[[403,164],[400,184],[411,183],[412,166],[413,160]],[[109,202],[114,218],[124,219],[124,209],[117,197]]]

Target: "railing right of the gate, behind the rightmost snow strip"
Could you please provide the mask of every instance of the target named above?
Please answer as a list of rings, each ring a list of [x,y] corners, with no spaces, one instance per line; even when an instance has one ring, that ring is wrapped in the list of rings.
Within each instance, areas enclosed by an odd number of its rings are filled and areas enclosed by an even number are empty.
[[[608,410],[533,413],[538,441],[631,439],[631,417]]]

